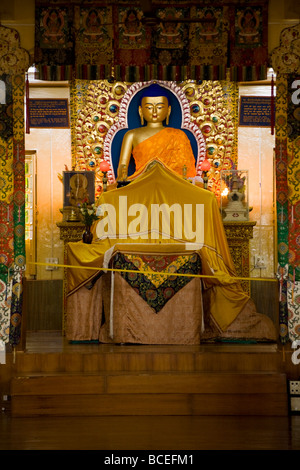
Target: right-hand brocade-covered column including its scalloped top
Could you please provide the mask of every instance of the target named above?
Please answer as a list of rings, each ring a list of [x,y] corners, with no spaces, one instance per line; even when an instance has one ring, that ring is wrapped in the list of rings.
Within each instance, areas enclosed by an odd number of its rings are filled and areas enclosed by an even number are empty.
[[[300,339],[300,23],[272,51],[276,73],[277,276],[281,342]]]

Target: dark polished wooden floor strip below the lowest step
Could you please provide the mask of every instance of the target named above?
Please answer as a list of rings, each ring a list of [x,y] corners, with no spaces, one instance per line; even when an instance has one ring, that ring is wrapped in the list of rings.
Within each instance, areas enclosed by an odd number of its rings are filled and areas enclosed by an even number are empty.
[[[0,419],[1,450],[300,450],[300,417]]]

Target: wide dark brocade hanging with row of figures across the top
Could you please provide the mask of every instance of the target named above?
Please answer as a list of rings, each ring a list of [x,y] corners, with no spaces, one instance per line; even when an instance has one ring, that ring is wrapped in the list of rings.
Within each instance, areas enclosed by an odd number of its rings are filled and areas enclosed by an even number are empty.
[[[268,0],[203,3],[37,0],[42,80],[259,80],[268,65]],[[229,46],[230,45],[230,46]]]

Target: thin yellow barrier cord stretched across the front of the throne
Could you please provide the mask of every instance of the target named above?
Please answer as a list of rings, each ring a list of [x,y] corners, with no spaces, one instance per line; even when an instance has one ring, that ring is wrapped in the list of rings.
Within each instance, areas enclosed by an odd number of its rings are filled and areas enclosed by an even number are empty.
[[[151,274],[154,275],[152,271],[139,271],[137,269],[117,269],[117,268],[101,268],[101,267],[94,267],[94,266],[72,266],[68,264],[51,264],[51,263],[33,263],[29,262],[27,263],[29,265],[35,265],[35,266],[54,266],[56,268],[71,268],[71,269],[89,269],[89,270],[94,270],[94,271],[104,271],[104,272],[124,272],[124,273],[135,273],[135,274]],[[221,278],[221,276],[214,276],[214,275],[209,275],[209,274],[188,274],[188,273],[170,273],[170,272],[164,272],[164,271],[159,271],[155,272],[155,275],[159,276],[182,276],[182,277],[199,277],[199,278],[206,278],[206,279],[218,279]],[[237,281],[270,281],[270,282],[277,282],[277,278],[260,278],[260,277],[239,277],[239,276],[234,276],[232,279],[236,279]]]

